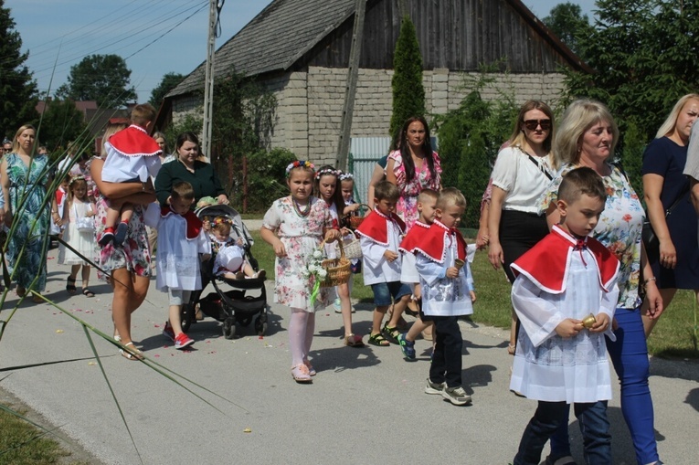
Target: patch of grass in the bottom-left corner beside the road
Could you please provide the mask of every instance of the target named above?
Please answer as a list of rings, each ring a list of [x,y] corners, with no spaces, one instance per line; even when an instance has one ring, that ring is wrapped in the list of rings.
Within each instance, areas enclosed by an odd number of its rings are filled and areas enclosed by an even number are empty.
[[[15,409],[14,406],[9,406]],[[20,415],[25,412],[19,410]],[[34,426],[25,420],[0,410],[0,465],[43,465],[51,463],[86,464],[70,461],[70,452],[57,441],[41,436]]]

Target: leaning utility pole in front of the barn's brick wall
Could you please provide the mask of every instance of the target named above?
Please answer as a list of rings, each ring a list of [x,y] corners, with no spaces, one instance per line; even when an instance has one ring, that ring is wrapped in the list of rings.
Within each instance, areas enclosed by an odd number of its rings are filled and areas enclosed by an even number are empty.
[[[335,156],[335,167],[343,171],[347,170],[352,117],[355,113],[356,81],[359,78],[359,58],[362,54],[365,9],[366,0],[356,0],[355,29],[352,34],[352,48],[350,49],[347,69],[347,85],[344,88],[343,121],[340,127],[340,142],[337,145],[337,155]]]

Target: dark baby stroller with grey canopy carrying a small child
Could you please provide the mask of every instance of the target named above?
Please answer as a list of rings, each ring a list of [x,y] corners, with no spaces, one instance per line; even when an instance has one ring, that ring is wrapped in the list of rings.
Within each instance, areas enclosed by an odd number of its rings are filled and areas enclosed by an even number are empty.
[[[227,217],[231,220],[230,237],[242,238],[245,258],[250,266],[258,271],[256,260],[250,248],[253,239],[248,228],[243,224],[238,212],[231,206],[215,205],[197,208],[195,214],[199,219],[213,220],[214,217]],[[236,325],[248,326],[255,319],[255,331],[261,336],[267,332],[267,291],[264,279],[227,280],[214,275],[214,262],[212,256],[207,262],[202,263],[202,289],[192,292],[192,297],[187,305],[182,306],[182,331],[186,332],[189,326],[196,322],[196,304],[205,315],[223,322],[223,335],[226,339],[233,339],[236,334]],[[203,291],[211,283],[215,292],[202,298]],[[224,283],[235,289],[223,291]],[[258,296],[249,295],[248,291],[259,291]]]

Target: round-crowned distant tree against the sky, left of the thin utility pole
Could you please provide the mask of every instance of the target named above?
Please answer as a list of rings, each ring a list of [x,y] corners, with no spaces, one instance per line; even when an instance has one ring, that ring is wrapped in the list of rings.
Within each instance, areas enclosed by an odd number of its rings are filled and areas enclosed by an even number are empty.
[[[118,55],[90,55],[70,67],[68,83],[56,91],[56,97],[71,100],[95,100],[104,108],[118,108],[137,98],[129,87],[131,69]]]

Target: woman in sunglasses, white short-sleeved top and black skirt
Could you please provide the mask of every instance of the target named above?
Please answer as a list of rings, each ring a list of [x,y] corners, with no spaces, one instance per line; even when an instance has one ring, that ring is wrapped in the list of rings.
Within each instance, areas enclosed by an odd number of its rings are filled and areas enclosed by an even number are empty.
[[[488,217],[488,259],[502,266],[512,283],[510,264],[548,234],[546,218],[538,213],[539,197],[552,179],[551,141],[554,113],[543,101],[528,100],[517,115],[507,146],[492,168],[492,198]],[[509,354],[516,344],[513,312]]]

